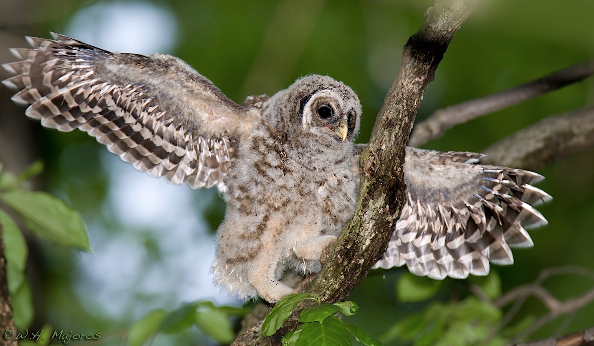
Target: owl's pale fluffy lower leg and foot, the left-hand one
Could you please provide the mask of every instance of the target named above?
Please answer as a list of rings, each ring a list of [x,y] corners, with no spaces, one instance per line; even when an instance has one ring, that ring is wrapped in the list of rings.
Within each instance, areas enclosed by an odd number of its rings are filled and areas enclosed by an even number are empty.
[[[258,296],[270,303],[274,303],[287,296],[287,294],[293,293],[293,288],[279,281],[283,269],[284,264],[280,258],[280,253],[278,251],[273,253],[268,249],[263,249],[252,260],[248,281],[258,291]]]

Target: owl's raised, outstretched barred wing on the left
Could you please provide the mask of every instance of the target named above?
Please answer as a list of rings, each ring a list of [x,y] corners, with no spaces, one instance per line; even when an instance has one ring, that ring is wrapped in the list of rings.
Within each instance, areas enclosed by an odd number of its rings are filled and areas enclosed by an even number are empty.
[[[154,177],[192,188],[223,187],[235,148],[257,123],[178,58],[112,53],[66,36],[27,37],[4,64],[26,115],[59,131],[88,132],[109,151]]]

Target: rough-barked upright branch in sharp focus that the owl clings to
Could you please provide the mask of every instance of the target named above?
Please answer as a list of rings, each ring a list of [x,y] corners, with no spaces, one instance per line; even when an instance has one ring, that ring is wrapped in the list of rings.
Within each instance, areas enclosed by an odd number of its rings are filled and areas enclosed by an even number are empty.
[[[474,6],[475,0],[437,0],[426,11],[423,26],[406,43],[399,75],[359,161],[361,187],[355,214],[337,240],[332,260],[313,280],[305,281],[301,291],[318,294],[324,302],[343,300],[386,250],[405,201],[402,164],[416,112],[447,46]],[[260,334],[260,322],[233,345],[279,344],[280,337],[298,325],[300,310],[308,307],[301,305],[275,336],[254,339]]]

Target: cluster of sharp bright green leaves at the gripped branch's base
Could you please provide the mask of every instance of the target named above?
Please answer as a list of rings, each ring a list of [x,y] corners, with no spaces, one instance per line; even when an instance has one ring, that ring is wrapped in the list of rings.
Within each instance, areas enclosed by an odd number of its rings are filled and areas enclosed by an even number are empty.
[[[378,346],[381,342],[372,337],[365,329],[350,325],[337,318],[337,313],[352,316],[359,310],[354,301],[338,301],[334,304],[322,304],[320,297],[305,293],[289,294],[277,301],[273,309],[264,318],[262,336],[270,336],[283,325],[300,301],[313,299],[317,305],[302,310],[298,321],[303,323],[295,331],[287,333],[282,339],[285,346],[299,345],[351,345],[349,333],[367,346]],[[265,329],[266,328],[266,329]]]

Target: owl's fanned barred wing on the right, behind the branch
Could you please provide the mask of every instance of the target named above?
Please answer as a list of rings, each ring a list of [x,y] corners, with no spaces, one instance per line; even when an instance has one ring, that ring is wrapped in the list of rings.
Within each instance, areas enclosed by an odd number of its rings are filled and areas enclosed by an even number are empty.
[[[482,154],[406,148],[407,202],[374,268],[407,265],[434,279],[486,275],[512,264],[510,247],[532,246],[525,228],[546,224],[532,205],[551,196],[534,172],[478,163]]]

